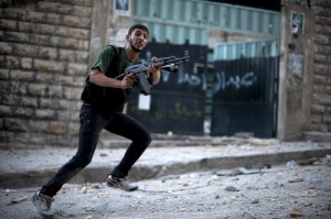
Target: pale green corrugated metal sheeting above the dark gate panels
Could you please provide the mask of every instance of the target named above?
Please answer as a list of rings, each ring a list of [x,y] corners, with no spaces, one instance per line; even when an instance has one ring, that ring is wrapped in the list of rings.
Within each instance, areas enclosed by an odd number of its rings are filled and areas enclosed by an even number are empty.
[[[209,30],[279,35],[277,12],[196,0],[134,1],[134,22],[148,25],[158,42],[172,44],[207,45]]]

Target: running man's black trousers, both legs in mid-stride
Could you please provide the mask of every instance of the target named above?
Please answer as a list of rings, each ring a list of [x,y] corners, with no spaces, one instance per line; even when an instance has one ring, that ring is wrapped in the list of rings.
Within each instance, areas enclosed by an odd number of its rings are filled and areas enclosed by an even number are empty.
[[[107,119],[94,112],[90,106],[83,105],[79,122],[79,141],[76,154],[41,188],[42,194],[50,197],[55,196],[65,183],[92,162],[103,129],[131,140],[131,144],[120,163],[110,173],[116,177],[126,177],[151,142],[148,130],[128,114],[115,113]]]

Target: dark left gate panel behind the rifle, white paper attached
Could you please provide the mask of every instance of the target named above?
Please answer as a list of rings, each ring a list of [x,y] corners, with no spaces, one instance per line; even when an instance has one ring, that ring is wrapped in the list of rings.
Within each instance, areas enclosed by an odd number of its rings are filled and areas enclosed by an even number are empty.
[[[203,134],[205,76],[196,66],[206,63],[207,46],[173,45],[150,42],[141,57],[182,57],[190,54],[190,63],[179,66],[178,73],[162,72],[159,85],[150,96],[132,90],[128,114],[141,121],[151,132]]]

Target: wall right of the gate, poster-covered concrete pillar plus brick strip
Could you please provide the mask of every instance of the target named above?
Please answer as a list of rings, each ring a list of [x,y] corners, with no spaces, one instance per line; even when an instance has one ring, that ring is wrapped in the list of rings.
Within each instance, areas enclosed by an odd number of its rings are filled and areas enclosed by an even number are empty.
[[[282,1],[277,136],[330,132],[331,2]],[[291,26],[293,13],[303,22]]]

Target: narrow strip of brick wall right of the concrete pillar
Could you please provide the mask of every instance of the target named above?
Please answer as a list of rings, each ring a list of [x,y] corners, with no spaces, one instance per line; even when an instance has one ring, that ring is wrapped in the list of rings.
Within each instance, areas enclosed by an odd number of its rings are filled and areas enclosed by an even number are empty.
[[[331,1],[312,0],[316,14],[311,125],[309,131],[331,132]]]

